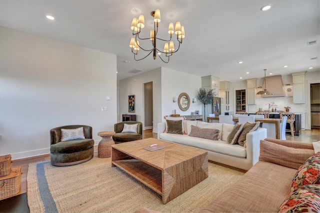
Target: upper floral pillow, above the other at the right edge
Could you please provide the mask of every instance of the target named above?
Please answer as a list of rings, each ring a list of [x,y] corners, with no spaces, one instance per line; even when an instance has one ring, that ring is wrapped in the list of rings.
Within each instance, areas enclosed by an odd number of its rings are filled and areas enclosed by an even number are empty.
[[[320,184],[320,152],[308,158],[296,171],[291,192],[307,184]]]

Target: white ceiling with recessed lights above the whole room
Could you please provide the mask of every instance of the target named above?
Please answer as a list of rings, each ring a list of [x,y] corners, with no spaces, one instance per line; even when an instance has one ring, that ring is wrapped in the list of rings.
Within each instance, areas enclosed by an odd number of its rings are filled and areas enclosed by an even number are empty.
[[[142,73],[128,73],[134,69],[146,72],[165,67],[232,82],[240,77],[242,80],[263,77],[263,69],[273,75],[319,70],[319,3],[319,0],[0,0],[0,25],[115,54],[118,80]],[[271,4],[271,9],[261,11],[265,4]],[[156,8],[161,11],[158,32],[161,38],[169,38],[169,22],[179,20],[184,25],[185,38],[169,63],[159,58],[153,60],[152,54],[134,61],[128,46],[131,20],[138,16],[131,13],[133,7],[144,14],[143,37],[153,28],[149,14]],[[55,20],[48,20],[47,14]],[[307,41],[312,40],[317,40],[317,44],[308,46]],[[163,43],[159,43],[162,50]],[[138,56],[145,54],[140,50]],[[318,59],[310,60],[312,57]],[[284,65],[288,67],[283,68]]]

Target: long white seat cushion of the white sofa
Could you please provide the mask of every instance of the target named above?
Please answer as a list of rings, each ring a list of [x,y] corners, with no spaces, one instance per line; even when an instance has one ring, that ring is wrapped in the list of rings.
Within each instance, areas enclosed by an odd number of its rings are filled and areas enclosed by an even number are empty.
[[[245,148],[239,146],[238,144],[230,146],[226,141],[212,141],[204,138],[190,137],[189,135],[176,135],[169,133],[161,133],[159,134],[159,138],[164,141],[170,141],[211,152],[226,154],[228,156],[234,156],[238,158],[246,157]]]

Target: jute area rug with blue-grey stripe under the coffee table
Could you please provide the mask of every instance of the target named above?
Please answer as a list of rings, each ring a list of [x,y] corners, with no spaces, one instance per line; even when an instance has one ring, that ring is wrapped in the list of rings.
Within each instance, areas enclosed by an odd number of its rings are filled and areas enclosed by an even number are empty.
[[[162,213],[199,212],[243,173],[208,165],[209,177],[163,205],[160,197],[140,182],[111,167],[110,158],[54,167],[49,161],[30,163],[27,203],[30,213],[133,213],[148,208]]]

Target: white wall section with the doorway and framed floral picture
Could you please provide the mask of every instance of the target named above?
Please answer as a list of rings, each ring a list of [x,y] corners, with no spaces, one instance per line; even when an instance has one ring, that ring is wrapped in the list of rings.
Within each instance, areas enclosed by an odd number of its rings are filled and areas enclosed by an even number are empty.
[[[135,114],[136,120],[142,122],[144,129],[143,84],[152,81],[153,92],[153,131],[161,121],[161,68],[135,75],[118,81],[118,118],[122,121],[122,114]],[[128,95],[135,95],[135,113],[128,112]]]

